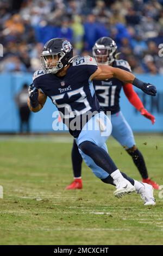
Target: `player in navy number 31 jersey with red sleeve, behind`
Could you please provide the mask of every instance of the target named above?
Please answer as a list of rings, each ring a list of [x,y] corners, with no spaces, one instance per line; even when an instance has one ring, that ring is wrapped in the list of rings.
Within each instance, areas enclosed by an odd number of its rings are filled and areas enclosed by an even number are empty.
[[[93,46],[93,57],[95,57],[98,64],[111,65],[114,68],[120,68],[131,72],[130,66],[126,60],[116,59],[117,45],[114,40],[109,37],[99,38]],[[112,124],[112,136],[126,149],[127,153],[132,157],[137,169],[142,176],[142,182],[146,182],[153,186],[156,190],[159,189],[159,185],[153,180],[148,178],[148,172],[145,164],[145,160],[139,149],[135,145],[133,131],[123,117],[120,111],[120,93],[123,88],[124,93],[128,97],[130,103],[138,110],[142,115],[155,122],[155,118],[152,114],[144,108],[139,96],[135,93],[132,84],[123,83],[117,78],[111,78],[107,80],[93,80],[93,86],[95,88],[96,96],[99,104],[103,107],[106,114],[107,111],[111,112],[111,124]],[[66,187],[67,190],[81,189],[82,184],[82,156],[79,153],[76,142],[73,142],[72,148],[72,166],[74,181]]]

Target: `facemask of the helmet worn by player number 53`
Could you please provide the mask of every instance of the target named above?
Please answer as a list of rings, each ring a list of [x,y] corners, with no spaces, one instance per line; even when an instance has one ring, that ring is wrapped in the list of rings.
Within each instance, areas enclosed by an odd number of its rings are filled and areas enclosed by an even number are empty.
[[[40,55],[41,69],[45,74],[56,74],[60,69],[64,68],[61,60],[65,56],[65,52],[43,53]]]

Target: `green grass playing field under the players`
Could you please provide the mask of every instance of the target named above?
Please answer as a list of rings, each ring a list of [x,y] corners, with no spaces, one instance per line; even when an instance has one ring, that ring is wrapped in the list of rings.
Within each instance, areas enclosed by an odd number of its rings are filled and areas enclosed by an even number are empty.
[[[135,136],[148,172],[163,184],[163,136]],[[83,164],[83,190],[65,191],[72,181],[69,136],[1,137],[1,245],[160,245],[163,198],[145,207],[139,195],[122,199]],[[120,145],[108,148],[118,168],[140,179]],[[162,193],[163,194],[163,193]]]

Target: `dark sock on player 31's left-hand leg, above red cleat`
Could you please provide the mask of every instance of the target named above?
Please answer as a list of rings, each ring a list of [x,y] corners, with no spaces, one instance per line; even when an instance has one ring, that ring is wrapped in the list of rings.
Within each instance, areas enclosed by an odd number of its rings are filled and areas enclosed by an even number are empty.
[[[81,178],[82,175],[82,156],[79,153],[77,143],[73,141],[73,147],[71,151],[72,168],[74,178]]]

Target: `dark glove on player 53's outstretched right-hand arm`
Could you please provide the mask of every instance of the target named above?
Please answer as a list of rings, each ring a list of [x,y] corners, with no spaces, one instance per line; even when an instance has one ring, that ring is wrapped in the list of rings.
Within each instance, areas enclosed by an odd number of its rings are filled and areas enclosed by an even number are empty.
[[[156,87],[151,83],[144,83],[141,80],[135,77],[133,81],[133,85],[137,88],[140,88],[144,93],[155,96],[156,95]]]

